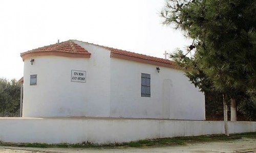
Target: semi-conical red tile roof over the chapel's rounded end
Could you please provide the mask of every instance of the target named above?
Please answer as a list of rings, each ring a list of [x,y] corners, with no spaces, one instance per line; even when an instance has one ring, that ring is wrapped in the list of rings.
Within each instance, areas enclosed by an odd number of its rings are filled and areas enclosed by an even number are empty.
[[[60,55],[78,54],[81,57],[82,57],[82,55],[89,56],[89,57],[91,55],[91,53],[89,53],[86,49],[84,49],[81,46],[79,46],[78,44],[74,43],[72,40],[36,48],[33,50],[29,50],[28,52],[21,53],[20,56],[24,58],[24,56],[26,56],[28,54],[32,54],[32,53],[33,54],[39,53],[39,56],[43,55],[43,54],[49,55],[49,53],[51,53],[51,55],[54,55],[52,53],[62,53]]]

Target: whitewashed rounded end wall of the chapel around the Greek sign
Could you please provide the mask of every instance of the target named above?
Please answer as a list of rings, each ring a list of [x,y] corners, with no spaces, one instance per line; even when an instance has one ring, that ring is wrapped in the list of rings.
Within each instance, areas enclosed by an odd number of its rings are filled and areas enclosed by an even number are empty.
[[[109,116],[110,52],[87,46],[91,58],[32,57],[24,61],[23,116]],[[86,83],[71,82],[71,70],[86,71]],[[37,85],[30,86],[30,75]]]

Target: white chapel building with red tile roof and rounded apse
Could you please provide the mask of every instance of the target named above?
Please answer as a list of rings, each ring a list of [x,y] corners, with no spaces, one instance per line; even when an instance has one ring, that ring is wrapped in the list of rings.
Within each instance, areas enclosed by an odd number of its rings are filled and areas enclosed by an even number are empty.
[[[205,120],[204,94],[172,61],[77,40],[20,56],[23,117]]]

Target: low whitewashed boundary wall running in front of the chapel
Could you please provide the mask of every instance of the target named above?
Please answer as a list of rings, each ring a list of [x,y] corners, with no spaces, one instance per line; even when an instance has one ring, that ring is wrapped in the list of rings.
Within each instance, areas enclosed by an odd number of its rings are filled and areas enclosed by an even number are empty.
[[[229,122],[230,133],[256,132],[256,122]],[[0,118],[0,141],[115,143],[140,139],[223,134],[223,121],[87,117]]]

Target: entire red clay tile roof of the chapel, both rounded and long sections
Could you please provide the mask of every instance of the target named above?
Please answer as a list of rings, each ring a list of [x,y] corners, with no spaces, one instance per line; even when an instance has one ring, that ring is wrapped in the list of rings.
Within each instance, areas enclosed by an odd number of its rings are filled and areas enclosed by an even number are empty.
[[[88,42],[84,42],[84,43],[88,43]],[[88,43],[88,44],[93,44],[93,43]],[[93,44],[93,45],[97,45],[97,44]],[[128,52],[126,50],[106,47],[102,45],[97,45],[97,46],[110,50],[111,57],[177,68],[174,62],[170,60]],[[33,49],[28,52],[21,53],[20,56],[23,59],[26,59],[33,56],[56,55],[56,53],[58,53],[58,56],[68,56],[68,57],[87,57],[87,58],[89,57],[90,58],[90,55],[91,55],[91,53],[89,53],[88,50],[82,48],[81,46],[76,44],[73,40],[68,40],[68,41],[52,44],[49,46]]]

